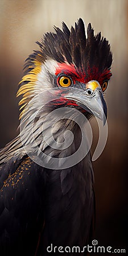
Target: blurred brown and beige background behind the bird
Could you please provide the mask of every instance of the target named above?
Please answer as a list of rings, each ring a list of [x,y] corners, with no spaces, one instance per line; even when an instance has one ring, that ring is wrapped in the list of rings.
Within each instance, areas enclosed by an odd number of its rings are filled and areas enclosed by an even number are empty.
[[[64,20],[71,27],[80,17],[85,24],[92,23],[95,33],[101,31],[108,38],[114,59],[113,77],[105,96],[109,135],[104,152],[93,163],[96,190],[94,238],[102,246],[126,248],[127,0],[1,0],[0,17],[0,147],[18,134],[18,99],[15,96],[23,75],[24,59],[33,49],[38,49],[35,41],[40,40],[44,32],[53,31],[53,25],[61,27]]]

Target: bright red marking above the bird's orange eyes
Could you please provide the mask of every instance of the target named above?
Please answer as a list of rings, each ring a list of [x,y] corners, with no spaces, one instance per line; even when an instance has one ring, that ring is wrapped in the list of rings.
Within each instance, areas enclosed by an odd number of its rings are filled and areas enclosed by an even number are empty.
[[[91,80],[96,80],[102,86],[104,80],[109,80],[112,76],[110,69],[105,69],[103,73],[98,71],[97,67],[90,68],[85,71],[78,69],[73,64],[66,64],[66,63],[57,63],[59,67],[56,68],[55,75],[59,75],[60,73],[71,76],[73,83],[75,84],[76,81],[82,82],[86,84]]]

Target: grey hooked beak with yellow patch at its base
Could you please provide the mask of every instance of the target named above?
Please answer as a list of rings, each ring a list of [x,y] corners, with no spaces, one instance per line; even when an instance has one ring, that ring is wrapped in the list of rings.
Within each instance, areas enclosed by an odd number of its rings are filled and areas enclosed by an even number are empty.
[[[102,94],[101,86],[97,81],[89,81],[84,90],[73,88],[73,90],[69,91],[68,95],[65,97],[69,100],[76,101],[83,109],[100,118],[105,125],[107,106]]]

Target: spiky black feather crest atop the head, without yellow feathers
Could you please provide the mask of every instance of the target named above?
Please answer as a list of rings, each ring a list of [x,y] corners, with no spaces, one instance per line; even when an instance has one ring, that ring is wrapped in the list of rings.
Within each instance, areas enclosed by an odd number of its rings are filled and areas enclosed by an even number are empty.
[[[112,65],[112,52],[106,38],[101,38],[101,32],[94,35],[91,24],[88,24],[87,38],[85,35],[85,26],[80,18],[75,23],[75,28],[71,31],[67,25],[62,23],[62,30],[55,28],[55,33],[49,32],[44,35],[42,43],[38,43],[40,51],[36,51],[27,59],[25,71],[33,59],[39,59],[44,62],[47,59],[56,60],[59,63],[67,61],[69,64],[75,64],[76,68],[81,69],[88,74],[97,72],[102,74]]]

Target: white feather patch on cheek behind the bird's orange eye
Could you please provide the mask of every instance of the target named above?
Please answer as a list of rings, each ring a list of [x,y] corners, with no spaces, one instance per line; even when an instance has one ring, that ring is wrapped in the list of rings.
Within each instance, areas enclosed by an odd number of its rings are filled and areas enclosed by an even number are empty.
[[[37,76],[35,92],[43,92],[46,89],[52,88],[51,80],[49,79],[49,73],[55,75],[56,68],[58,67],[57,61],[46,60],[41,67],[41,71]]]

